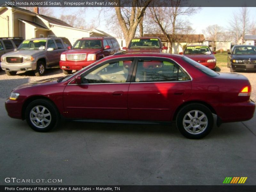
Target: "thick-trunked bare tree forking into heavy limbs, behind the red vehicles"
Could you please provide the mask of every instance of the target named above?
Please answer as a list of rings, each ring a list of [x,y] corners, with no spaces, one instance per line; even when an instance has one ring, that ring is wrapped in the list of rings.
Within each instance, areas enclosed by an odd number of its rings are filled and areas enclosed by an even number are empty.
[[[116,18],[123,31],[126,44],[134,37],[137,27],[143,19],[144,13],[152,0],[132,0],[132,7],[115,7]],[[113,0],[120,5],[120,0]]]

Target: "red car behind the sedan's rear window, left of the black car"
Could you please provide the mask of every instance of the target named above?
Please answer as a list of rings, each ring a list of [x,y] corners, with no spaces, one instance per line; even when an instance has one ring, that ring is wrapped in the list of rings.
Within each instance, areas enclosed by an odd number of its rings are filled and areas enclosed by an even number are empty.
[[[216,54],[216,52],[212,52],[206,45],[188,45],[184,53],[180,52],[180,55],[185,55],[212,70],[216,68],[216,58],[214,54]]]

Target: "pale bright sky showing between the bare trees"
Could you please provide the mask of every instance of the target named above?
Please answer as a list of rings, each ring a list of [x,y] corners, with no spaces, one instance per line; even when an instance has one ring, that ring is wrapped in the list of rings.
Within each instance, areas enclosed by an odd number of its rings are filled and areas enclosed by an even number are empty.
[[[61,8],[53,7],[55,17],[61,14]],[[67,14],[71,14],[72,12],[76,12],[77,8],[71,8],[70,12]],[[90,23],[90,20],[98,17],[98,12],[101,8],[98,7],[87,7],[86,9],[86,22]],[[192,23],[192,28],[195,29],[196,34],[202,34],[202,30],[205,29],[209,25],[219,25],[224,28],[228,28],[229,20],[231,20],[233,13],[238,13],[240,7],[202,7],[201,11],[187,17],[187,19]],[[256,21],[256,7],[248,7],[249,9],[249,18],[251,21]],[[111,31],[108,29],[108,23],[104,19],[103,13],[101,13],[100,18],[100,26],[99,30],[105,31],[110,35],[113,35]]]

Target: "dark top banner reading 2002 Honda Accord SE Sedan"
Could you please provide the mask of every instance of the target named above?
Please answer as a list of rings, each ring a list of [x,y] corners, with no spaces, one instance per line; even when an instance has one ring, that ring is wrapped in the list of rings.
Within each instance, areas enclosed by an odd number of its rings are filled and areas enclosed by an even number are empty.
[[[16,7],[132,7],[150,0],[0,0],[0,6]],[[149,7],[171,7],[176,0],[152,0]],[[255,0],[181,0],[180,7],[256,7]]]

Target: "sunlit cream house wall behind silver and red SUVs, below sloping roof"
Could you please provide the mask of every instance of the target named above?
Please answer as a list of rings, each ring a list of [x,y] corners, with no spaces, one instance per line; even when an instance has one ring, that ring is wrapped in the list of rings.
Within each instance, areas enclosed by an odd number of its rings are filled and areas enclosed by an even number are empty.
[[[59,26],[53,26],[50,28],[57,37],[67,37],[70,43],[73,45],[77,39],[82,37],[89,37],[90,33],[86,31],[80,31],[72,28],[64,28]]]

